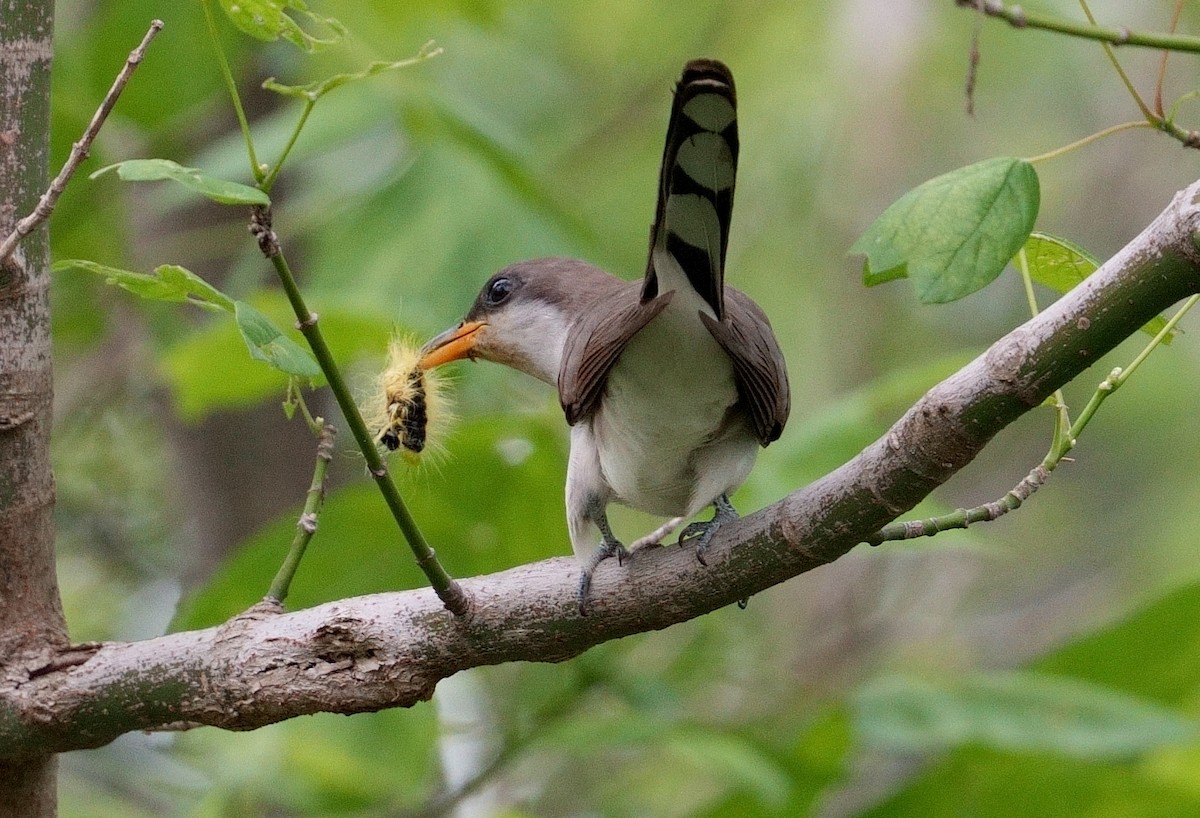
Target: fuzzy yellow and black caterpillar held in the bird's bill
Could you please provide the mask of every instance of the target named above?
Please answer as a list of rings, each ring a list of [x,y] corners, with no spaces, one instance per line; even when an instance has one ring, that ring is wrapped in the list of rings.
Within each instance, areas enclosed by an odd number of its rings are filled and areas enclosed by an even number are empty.
[[[448,416],[443,381],[432,371],[419,366],[418,347],[392,338],[388,347],[388,367],[376,389],[372,425],[376,440],[389,451],[401,450],[409,462],[416,462],[425,450],[430,432],[437,432]]]

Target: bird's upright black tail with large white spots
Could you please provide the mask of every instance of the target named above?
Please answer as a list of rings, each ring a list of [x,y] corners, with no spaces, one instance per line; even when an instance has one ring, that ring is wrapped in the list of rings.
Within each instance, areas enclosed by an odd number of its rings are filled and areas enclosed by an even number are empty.
[[[716,60],[692,60],[676,86],[642,301],[659,295],[655,255],[668,253],[688,281],[725,315],[725,249],[738,166],[733,74]]]

